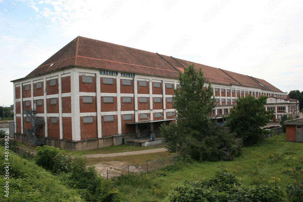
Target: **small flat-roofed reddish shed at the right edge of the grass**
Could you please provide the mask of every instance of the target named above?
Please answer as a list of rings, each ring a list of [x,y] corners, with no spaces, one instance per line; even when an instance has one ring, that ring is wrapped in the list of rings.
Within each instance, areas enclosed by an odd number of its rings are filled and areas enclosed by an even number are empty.
[[[286,141],[303,142],[303,118],[284,121],[286,126]]]

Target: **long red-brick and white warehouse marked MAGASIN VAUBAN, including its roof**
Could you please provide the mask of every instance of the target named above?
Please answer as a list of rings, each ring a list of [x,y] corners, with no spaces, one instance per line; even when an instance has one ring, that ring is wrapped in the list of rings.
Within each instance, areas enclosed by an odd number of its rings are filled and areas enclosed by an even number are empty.
[[[175,120],[172,94],[180,87],[179,71],[190,63],[79,36],[25,78],[12,81],[15,140],[72,151],[135,145],[136,138],[161,141],[160,125]],[[274,121],[288,108],[298,110],[298,101],[290,103],[287,93],[265,80],[194,64],[213,87],[215,119],[229,113],[237,96],[248,94],[272,97]]]

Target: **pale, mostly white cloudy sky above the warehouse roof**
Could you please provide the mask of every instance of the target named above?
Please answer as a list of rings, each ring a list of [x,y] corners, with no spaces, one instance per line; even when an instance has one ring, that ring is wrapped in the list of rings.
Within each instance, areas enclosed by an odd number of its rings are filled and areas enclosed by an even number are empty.
[[[302,0],[0,0],[0,105],[13,83],[77,36],[303,91]]]

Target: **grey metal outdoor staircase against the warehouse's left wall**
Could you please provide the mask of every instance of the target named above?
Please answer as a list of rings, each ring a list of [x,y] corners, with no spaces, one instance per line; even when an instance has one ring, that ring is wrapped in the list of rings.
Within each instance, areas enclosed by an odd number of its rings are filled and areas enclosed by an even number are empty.
[[[42,118],[35,117],[36,110],[35,109],[23,109],[23,114],[26,115],[26,117],[29,119],[29,121],[32,123],[32,127],[30,128],[23,128],[24,133],[27,135],[28,139],[31,141],[31,143],[35,146],[45,144],[44,137],[37,137],[36,131],[38,127],[42,124],[44,124],[44,121]]]

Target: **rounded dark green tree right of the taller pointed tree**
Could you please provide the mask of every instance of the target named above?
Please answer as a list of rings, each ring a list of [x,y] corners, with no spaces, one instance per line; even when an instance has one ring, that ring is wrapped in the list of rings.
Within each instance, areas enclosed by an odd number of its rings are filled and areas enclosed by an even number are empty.
[[[243,138],[244,144],[249,145],[264,138],[266,131],[260,127],[265,126],[274,117],[273,110],[266,111],[264,104],[267,97],[259,98],[248,94],[246,97],[238,97],[236,105],[226,117],[226,126],[237,137]]]

